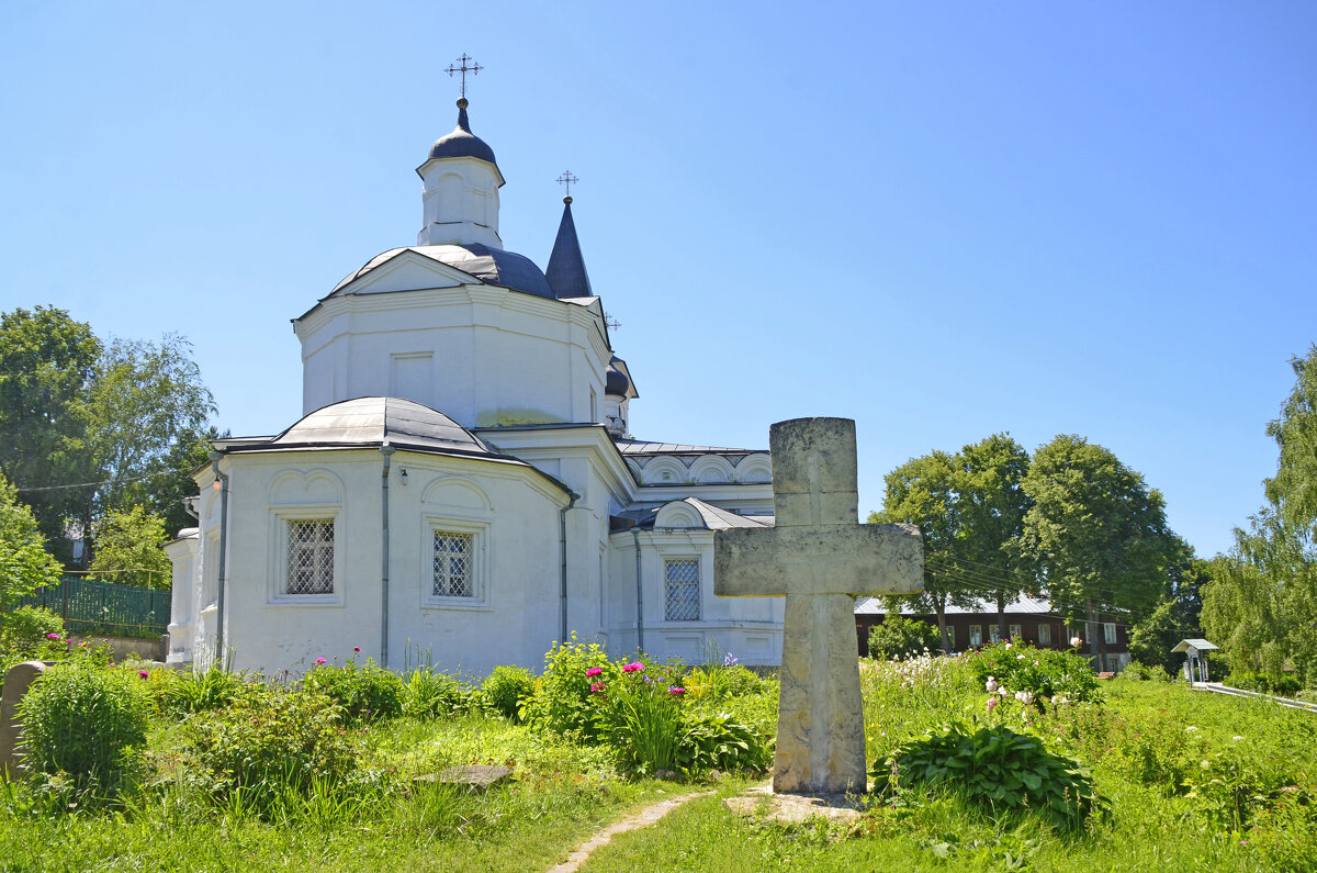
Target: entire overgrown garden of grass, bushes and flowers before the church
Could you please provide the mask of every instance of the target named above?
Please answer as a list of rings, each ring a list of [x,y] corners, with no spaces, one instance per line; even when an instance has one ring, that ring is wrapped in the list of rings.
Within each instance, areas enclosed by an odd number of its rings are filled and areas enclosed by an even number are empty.
[[[852,826],[723,806],[764,778],[777,695],[731,663],[610,661],[569,642],[490,694],[432,670],[395,683],[369,663],[327,663],[340,673],[300,687],[78,665],[137,677],[154,702],[125,760],[136,777],[112,798],[0,783],[7,870],[547,869],[689,790],[651,778],[660,760],[712,794],[586,869],[1304,870],[1317,857],[1312,713],[1183,683],[1097,686],[1027,646],[861,662],[878,778]],[[957,756],[975,779],[921,778]],[[460,764],[516,777],[483,795],[415,781]],[[743,773],[710,778],[715,764]]]

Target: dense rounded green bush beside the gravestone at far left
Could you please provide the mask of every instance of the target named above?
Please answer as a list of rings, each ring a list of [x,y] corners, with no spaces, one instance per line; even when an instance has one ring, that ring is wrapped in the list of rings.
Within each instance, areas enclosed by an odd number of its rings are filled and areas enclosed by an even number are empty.
[[[20,703],[25,766],[37,782],[115,798],[146,741],[146,691],[136,673],[70,663],[47,670]]]

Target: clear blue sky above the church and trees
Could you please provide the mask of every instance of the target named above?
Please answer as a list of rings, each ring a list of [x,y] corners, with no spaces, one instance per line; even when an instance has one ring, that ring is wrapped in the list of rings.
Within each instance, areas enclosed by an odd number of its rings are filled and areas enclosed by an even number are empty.
[[[234,434],[288,319],[415,241],[471,125],[502,235],[574,212],[645,439],[847,415],[882,475],[1008,430],[1112,448],[1210,555],[1317,340],[1317,4],[9,3],[0,309],[187,335]]]

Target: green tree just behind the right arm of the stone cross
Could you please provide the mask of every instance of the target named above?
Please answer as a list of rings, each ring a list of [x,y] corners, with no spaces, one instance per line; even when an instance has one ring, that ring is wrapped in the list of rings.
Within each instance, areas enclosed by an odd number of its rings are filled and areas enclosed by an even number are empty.
[[[923,533],[923,592],[907,600],[938,616],[943,649],[951,647],[947,607],[973,601],[964,579],[948,572],[959,530],[956,468],[956,459],[944,451],[911,458],[884,477],[882,510],[869,514],[869,524],[911,524]],[[890,615],[900,600],[886,600]]]

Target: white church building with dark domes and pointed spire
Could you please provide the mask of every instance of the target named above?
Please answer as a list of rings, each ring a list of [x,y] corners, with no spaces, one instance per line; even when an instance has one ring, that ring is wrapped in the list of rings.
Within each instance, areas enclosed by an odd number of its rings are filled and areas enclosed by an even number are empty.
[[[576,632],[778,663],[782,600],[712,593],[714,531],[773,524],[768,452],[631,435],[572,198],[547,270],[504,249],[503,174],[457,105],[417,169],[416,245],[294,320],[302,419],[217,440],[195,475],[169,662],[296,674],[360,647],[485,674]]]

